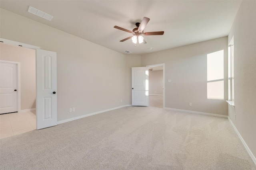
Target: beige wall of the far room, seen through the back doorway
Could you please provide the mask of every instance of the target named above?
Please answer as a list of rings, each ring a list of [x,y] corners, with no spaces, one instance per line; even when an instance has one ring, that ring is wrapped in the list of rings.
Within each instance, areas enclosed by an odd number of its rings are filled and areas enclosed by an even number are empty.
[[[149,94],[163,95],[163,70],[150,71],[148,85]]]

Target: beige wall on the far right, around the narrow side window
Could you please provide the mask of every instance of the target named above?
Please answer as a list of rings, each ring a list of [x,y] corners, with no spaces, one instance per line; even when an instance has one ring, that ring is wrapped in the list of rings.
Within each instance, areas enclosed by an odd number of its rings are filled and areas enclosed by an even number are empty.
[[[243,1],[228,35],[229,41],[234,36],[235,78],[235,108],[228,107],[228,116],[254,156],[256,156],[255,9],[256,1]]]

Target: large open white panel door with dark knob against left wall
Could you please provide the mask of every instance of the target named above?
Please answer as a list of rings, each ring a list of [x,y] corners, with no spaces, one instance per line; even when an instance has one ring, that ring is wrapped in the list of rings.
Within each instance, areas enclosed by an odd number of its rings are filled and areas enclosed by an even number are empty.
[[[37,129],[57,125],[57,54],[36,50]]]

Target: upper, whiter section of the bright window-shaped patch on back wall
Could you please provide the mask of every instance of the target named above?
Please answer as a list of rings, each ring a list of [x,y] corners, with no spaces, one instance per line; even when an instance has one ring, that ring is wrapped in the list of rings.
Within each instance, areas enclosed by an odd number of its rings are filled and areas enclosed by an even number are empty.
[[[207,81],[224,78],[224,50],[207,55]]]

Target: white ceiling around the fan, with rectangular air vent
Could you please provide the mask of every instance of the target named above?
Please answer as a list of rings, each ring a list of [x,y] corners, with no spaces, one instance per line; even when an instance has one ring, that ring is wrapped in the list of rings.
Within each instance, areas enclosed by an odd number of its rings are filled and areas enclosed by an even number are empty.
[[[142,55],[228,35],[241,1],[236,0],[1,0],[0,6],[21,16],[76,35],[114,51]],[[28,13],[32,6],[54,18],[45,20]],[[150,18],[144,32],[146,44],[135,47],[131,33],[143,17]],[[150,49],[152,48],[152,49]]]

